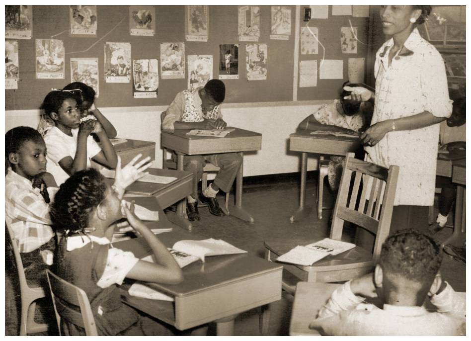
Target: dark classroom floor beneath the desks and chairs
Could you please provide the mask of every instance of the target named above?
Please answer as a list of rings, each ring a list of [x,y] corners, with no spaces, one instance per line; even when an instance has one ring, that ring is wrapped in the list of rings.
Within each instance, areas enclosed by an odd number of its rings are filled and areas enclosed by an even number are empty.
[[[307,204],[315,207],[316,180],[315,172],[308,174]],[[327,188],[327,186],[325,187]],[[325,190],[324,206],[333,202],[332,195]],[[327,224],[330,211],[325,211],[323,219],[317,220],[315,211],[301,222],[290,223],[289,217],[296,210],[299,198],[299,174],[277,176],[248,177],[244,179],[243,206],[255,218],[250,224],[231,216],[215,217],[206,208],[200,208],[201,221],[194,222],[194,231],[208,238],[223,239],[253,255],[263,257],[263,241],[268,238],[289,238],[290,236],[314,236],[323,238],[328,235]],[[233,197],[231,196],[231,199]],[[220,203],[223,196],[219,197]],[[333,206],[333,204],[332,204]],[[414,226],[427,229],[427,209],[414,212]],[[178,227],[175,227],[178,228]],[[436,235],[443,241],[452,232],[444,229]],[[348,233],[347,231],[347,238]],[[7,267],[5,267],[7,268]],[[445,256],[441,267],[444,278],[456,291],[466,291],[466,264]],[[19,288],[15,286],[14,275],[8,271],[5,277],[5,334],[17,335],[17,308]],[[289,333],[291,305],[293,297],[283,293],[282,299],[271,304],[270,336],[286,336]],[[55,328],[54,312],[45,303],[37,316],[39,320],[46,317]],[[49,308],[48,308],[49,307]],[[215,335],[215,327],[210,325],[208,335]],[[50,335],[57,335],[54,332]],[[240,314],[235,320],[235,335],[258,336],[258,309]]]

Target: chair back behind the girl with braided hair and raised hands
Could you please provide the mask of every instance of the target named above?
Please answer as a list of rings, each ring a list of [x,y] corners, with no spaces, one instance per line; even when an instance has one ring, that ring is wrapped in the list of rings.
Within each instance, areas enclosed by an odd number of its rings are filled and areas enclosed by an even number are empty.
[[[62,336],[61,319],[64,319],[83,328],[86,336],[98,336],[95,319],[85,292],[50,270],[47,270],[46,274],[54,303],[59,335]]]

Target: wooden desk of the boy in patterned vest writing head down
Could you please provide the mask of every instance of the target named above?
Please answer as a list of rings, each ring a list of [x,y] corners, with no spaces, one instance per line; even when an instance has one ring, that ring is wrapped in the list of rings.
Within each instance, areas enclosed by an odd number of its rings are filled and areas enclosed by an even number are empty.
[[[258,151],[262,148],[262,134],[244,129],[235,128],[224,138],[209,136],[186,135],[189,130],[162,131],[162,147],[171,149],[177,154],[177,169],[183,170],[183,157],[185,155],[203,155],[219,153],[238,153],[243,160],[243,152]],[[235,180],[235,206],[229,207],[229,213],[236,218],[252,222],[252,215],[242,208],[242,178],[243,161],[237,172]],[[186,216],[185,200],[177,207],[178,214],[173,223],[191,231],[191,223],[183,218]],[[178,218],[180,217],[180,218]]]

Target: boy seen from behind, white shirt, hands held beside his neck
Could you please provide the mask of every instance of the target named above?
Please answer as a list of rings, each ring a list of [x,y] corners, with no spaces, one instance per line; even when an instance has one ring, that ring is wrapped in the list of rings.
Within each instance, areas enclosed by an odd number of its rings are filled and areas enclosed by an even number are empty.
[[[440,246],[408,229],[389,236],[374,273],[336,289],[309,328],[337,336],[455,336],[466,333],[466,300],[438,272]],[[427,297],[437,312],[425,309]],[[383,309],[365,304],[380,298]]]

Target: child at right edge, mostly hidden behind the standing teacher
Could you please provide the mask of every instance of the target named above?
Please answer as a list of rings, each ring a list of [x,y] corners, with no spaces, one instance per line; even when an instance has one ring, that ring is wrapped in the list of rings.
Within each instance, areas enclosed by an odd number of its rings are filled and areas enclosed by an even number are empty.
[[[440,151],[452,152],[454,150],[466,151],[466,97],[460,97],[453,101],[452,115],[447,119],[446,126],[440,126]],[[441,188],[438,200],[439,213],[437,221],[433,223],[429,230],[432,234],[442,230],[451,211],[456,198],[456,184],[449,177],[437,176],[437,185]]]

